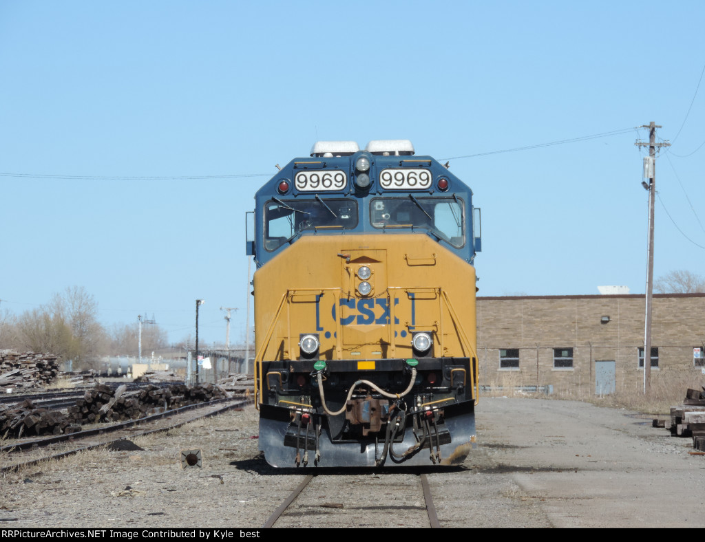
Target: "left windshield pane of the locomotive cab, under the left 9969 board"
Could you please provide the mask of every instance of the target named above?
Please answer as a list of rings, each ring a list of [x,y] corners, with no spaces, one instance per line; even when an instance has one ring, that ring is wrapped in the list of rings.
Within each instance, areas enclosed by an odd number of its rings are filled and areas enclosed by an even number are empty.
[[[264,208],[264,248],[274,251],[305,230],[353,229],[357,226],[354,199],[272,198]]]

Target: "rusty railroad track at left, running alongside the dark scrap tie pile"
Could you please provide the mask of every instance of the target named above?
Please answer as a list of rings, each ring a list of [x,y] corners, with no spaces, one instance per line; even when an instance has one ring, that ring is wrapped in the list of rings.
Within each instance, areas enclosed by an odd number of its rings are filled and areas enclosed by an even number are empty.
[[[0,448],[0,472],[15,471],[21,467],[39,462],[64,458],[83,450],[107,446],[135,436],[175,429],[188,422],[204,417],[215,416],[242,408],[250,403],[246,398],[223,398],[208,403],[186,405],[175,410],[116,424],[103,424],[100,427],[78,433],[49,436],[43,439],[21,439],[12,441]]]

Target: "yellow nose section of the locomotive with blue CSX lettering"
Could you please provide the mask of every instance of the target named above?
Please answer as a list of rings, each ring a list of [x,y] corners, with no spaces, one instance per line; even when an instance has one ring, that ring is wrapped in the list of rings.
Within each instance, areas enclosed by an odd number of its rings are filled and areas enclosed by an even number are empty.
[[[357,291],[362,265],[372,270],[365,297]],[[300,334],[315,330],[321,359],[374,367],[376,359],[411,358],[403,339],[414,329],[433,332],[436,357],[477,360],[474,267],[426,236],[304,237],[259,269],[254,286],[258,360],[297,359]]]

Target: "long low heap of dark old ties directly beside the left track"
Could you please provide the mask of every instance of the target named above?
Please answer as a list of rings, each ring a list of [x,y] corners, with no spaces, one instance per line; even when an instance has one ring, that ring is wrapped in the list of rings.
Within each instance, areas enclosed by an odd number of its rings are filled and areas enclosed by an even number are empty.
[[[80,431],[84,424],[137,420],[156,412],[226,397],[228,392],[213,384],[176,384],[163,388],[150,384],[135,391],[127,391],[125,384],[117,389],[99,384],[68,407],[68,412],[36,408],[28,399],[19,405],[0,406],[0,436],[8,434],[20,438],[23,435],[73,433]]]

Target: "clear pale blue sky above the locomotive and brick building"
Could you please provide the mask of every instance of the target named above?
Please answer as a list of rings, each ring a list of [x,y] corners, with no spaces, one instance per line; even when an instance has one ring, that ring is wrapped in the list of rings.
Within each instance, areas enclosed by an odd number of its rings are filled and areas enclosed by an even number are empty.
[[[200,339],[222,305],[235,342],[245,211],[317,139],[446,159],[651,120],[674,143],[654,274],[702,273],[704,23],[699,0],[0,0],[0,311],[84,286],[106,327],[154,314],[178,341],[203,298]],[[636,139],[450,160],[482,208],[479,295],[643,294]]]

